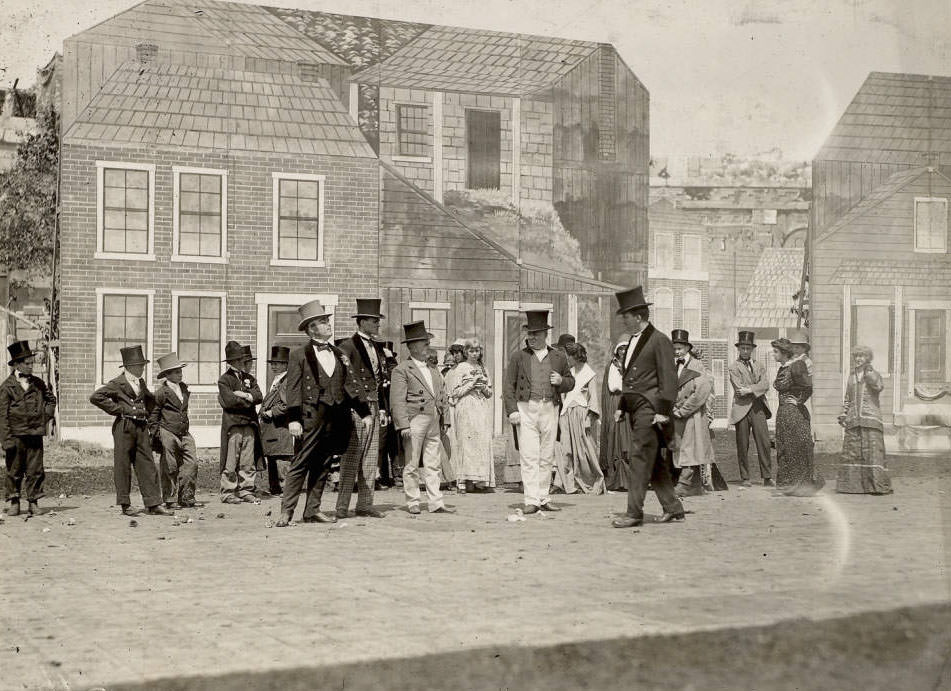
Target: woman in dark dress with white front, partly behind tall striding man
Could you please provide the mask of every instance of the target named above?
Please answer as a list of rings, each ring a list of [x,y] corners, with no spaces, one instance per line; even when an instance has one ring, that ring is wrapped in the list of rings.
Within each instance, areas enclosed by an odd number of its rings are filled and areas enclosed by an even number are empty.
[[[609,491],[626,492],[630,477],[631,423],[626,417],[614,419],[621,402],[622,371],[630,334],[623,334],[614,346],[614,357],[604,368],[601,379],[601,453],[599,465],[604,486]]]

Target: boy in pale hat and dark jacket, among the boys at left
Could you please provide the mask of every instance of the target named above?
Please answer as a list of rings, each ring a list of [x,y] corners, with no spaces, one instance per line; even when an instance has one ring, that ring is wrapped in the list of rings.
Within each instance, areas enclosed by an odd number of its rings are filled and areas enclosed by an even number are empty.
[[[149,413],[149,430],[162,444],[159,478],[165,508],[196,506],[195,485],[198,481],[198,450],[188,431],[188,399],[191,393],[182,381],[185,363],[178,353],[158,359],[162,383],[155,389],[155,405]]]

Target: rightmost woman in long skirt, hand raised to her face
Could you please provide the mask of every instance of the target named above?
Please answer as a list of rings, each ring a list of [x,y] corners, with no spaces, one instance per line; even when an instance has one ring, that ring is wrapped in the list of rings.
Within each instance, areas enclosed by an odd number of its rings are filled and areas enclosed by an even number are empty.
[[[836,492],[892,492],[892,481],[885,467],[885,432],[878,402],[884,386],[882,375],[872,368],[872,349],[867,346],[852,348],[852,372],[845,389],[845,405],[839,416],[845,437]]]

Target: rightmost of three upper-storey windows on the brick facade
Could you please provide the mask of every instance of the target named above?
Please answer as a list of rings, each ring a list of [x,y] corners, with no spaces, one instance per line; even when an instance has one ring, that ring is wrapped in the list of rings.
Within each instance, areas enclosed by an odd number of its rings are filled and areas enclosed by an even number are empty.
[[[319,180],[279,178],[277,256],[275,259],[318,261],[321,232]]]

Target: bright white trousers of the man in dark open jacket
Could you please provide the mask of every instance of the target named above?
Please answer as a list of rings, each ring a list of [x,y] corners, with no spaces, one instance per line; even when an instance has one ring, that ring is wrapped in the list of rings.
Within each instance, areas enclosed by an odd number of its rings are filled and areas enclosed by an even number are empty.
[[[551,401],[519,401],[518,449],[526,506],[548,503],[558,409]]]

